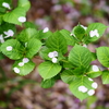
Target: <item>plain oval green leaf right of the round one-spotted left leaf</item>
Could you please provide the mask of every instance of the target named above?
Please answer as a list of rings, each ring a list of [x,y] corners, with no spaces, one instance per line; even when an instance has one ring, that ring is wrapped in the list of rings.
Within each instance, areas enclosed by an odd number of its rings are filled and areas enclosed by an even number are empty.
[[[27,41],[27,47],[26,47],[26,57],[27,58],[33,58],[34,55],[38,52],[38,50],[41,47],[40,40],[36,38],[32,38]]]

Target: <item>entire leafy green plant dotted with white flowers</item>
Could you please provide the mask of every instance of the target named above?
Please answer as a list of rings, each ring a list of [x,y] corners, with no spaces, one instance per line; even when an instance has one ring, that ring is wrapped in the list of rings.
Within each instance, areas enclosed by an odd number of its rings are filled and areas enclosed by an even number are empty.
[[[108,69],[100,71],[90,64],[98,59],[108,68],[109,47],[96,48],[96,52],[86,48],[89,43],[98,40],[108,26],[92,23],[88,27],[78,24],[72,32],[61,29],[52,33],[47,27],[38,31],[33,23],[26,22],[29,7],[28,0],[19,0],[15,9],[12,9],[12,0],[0,1],[0,59],[7,56],[15,60],[13,71],[26,75],[35,68],[32,59],[40,56],[45,60],[38,66],[41,86],[49,88],[57,80],[62,80],[81,100],[95,94],[98,85],[93,78],[101,75],[102,83],[109,84]],[[17,34],[15,25],[25,28]],[[70,51],[69,46],[72,46]]]

